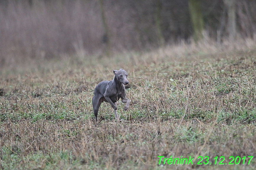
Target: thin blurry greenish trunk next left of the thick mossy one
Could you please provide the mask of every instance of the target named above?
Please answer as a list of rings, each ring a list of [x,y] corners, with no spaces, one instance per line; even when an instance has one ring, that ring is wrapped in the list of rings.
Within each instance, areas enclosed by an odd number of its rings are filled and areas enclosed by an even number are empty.
[[[163,38],[163,32],[162,32],[162,27],[161,27],[161,9],[162,9],[162,4],[161,0],[157,0],[156,2],[156,27],[157,27],[157,34],[158,34],[158,43],[160,46],[164,45],[164,38]]]

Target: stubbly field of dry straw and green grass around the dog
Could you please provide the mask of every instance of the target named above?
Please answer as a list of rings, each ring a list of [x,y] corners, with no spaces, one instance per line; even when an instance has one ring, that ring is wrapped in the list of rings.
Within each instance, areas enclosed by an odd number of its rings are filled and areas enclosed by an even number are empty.
[[[1,70],[0,169],[256,168],[255,50],[176,57],[158,51],[97,62]],[[97,125],[93,89],[119,68],[129,75],[130,107],[124,112],[118,103],[118,123],[103,103]],[[194,160],[163,165],[162,158],[159,165],[158,156]]]

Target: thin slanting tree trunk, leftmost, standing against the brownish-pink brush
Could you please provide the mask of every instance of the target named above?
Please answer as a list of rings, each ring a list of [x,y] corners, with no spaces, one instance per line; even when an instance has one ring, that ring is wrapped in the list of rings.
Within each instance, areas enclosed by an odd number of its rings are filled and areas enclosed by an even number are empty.
[[[107,49],[106,49],[106,55],[110,56],[111,55],[111,42],[110,42],[110,30],[108,29],[108,24],[106,21],[106,15],[104,12],[104,7],[103,7],[103,0],[99,0],[99,5],[100,5],[100,10],[101,10],[101,19],[102,19],[102,24],[104,28],[104,35],[102,37],[103,43],[106,43]]]

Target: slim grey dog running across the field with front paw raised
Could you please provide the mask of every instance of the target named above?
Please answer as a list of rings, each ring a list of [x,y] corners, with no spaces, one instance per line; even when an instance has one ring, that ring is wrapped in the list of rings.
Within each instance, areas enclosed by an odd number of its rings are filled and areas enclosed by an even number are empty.
[[[93,96],[93,113],[95,115],[96,122],[98,111],[102,102],[108,102],[111,104],[115,112],[115,118],[119,121],[119,117],[116,114],[117,105],[116,102],[121,98],[124,106],[124,111],[129,108],[130,100],[125,97],[124,85],[128,85],[127,72],[120,68],[120,70],[113,70],[114,79],[111,81],[102,81],[94,89]]]

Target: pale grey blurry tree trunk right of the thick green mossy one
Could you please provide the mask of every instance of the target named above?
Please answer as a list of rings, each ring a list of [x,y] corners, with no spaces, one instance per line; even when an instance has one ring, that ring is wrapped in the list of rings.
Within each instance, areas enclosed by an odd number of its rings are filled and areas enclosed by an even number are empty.
[[[236,0],[224,0],[228,9],[228,31],[229,40],[233,41],[236,38]]]

